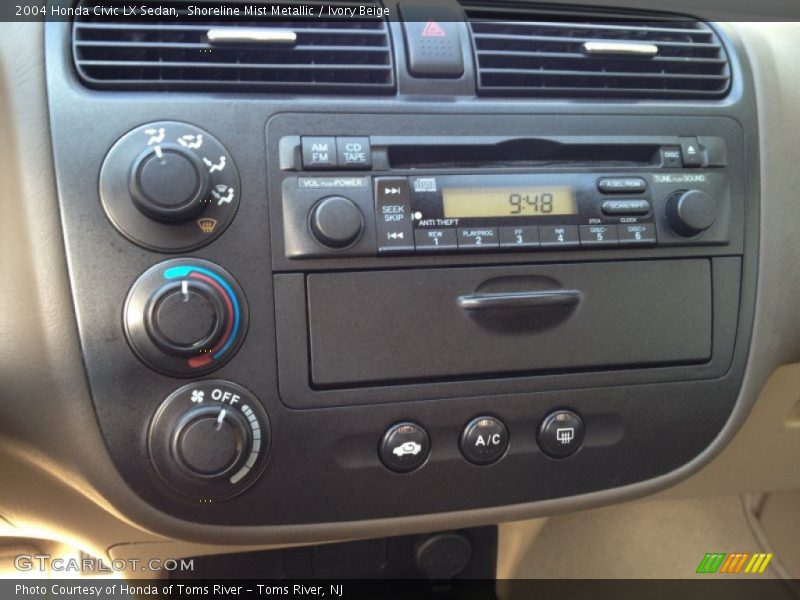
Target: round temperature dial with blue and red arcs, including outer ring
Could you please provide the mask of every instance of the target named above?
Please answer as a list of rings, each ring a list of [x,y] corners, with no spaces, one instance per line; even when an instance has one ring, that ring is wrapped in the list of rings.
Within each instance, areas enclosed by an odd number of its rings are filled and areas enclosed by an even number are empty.
[[[131,287],[125,332],[139,358],[176,377],[218,369],[239,348],[247,305],[233,276],[214,263],[175,259],[157,264]]]

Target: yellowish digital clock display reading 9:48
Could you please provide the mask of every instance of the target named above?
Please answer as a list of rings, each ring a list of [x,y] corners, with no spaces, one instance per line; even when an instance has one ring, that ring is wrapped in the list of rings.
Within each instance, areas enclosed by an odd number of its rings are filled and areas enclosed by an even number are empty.
[[[574,215],[578,209],[566,186],[443,188],[446,219]]]

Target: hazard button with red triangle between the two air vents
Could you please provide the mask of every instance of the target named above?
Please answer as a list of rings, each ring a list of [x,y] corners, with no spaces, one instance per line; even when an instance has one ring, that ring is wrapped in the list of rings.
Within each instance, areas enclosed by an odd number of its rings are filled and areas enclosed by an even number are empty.
[[[413,77],[456,79],[464,74],[458,22],[448,6],[403,3],[408,72]]]

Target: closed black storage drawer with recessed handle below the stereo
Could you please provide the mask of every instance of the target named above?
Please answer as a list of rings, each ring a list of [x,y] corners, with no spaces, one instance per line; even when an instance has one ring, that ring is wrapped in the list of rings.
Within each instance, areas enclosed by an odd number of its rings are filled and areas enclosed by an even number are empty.
[[[706,362],[706,259],[308,275],[311,379],[347,387]]]

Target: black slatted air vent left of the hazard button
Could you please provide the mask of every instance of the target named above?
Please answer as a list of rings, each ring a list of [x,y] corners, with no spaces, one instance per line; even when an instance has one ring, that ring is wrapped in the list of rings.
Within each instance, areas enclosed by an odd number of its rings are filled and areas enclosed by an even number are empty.
[[[373,0],[377,6],[377,0]],[[353,2],[303,2],[314,15]],[[102,0],[82,0],[93,7]],[[108,3],[105,3],[108,4]],[[209,90],[318,94],[390,94],[394,65],[385,21],[270,17],[272,4],[145,0],[138,7],[173,7],[177,16],[77,17],[75,68],[92,88]],[[285,3],[291,6],[291,3]],[[299,5],[298,5],[299,6]],[[222,16],[197,14],[218,8]],[[261,13],[254,13],[254,10]],[[121,9],[120,9],[121,10]],[[233,16],[238,10],[238,16]],[[292,19],[287,21],[285,19]],[[248,20],[250,19],[250,20]],[[213,41],[212,41],[213,40]]]

